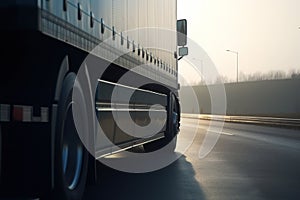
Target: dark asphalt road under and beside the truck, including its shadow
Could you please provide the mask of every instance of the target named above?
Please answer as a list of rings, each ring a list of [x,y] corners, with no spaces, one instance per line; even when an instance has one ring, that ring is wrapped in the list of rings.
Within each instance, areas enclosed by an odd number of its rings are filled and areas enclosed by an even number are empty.
[[[84,199],[300,199],[299,130],[226,123],[200,158],[207,129],[219,126],[183,119],[177,145],[187,148],[177,161],[142,174],[99,168],[100,181]]]

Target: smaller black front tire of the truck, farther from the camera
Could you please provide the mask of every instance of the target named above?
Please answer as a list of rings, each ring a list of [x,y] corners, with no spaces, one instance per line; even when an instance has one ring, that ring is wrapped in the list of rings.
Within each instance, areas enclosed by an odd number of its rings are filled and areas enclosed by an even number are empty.
[[[166,122],[167,127],[165,131],[165,137],[160,140],[144,144],[143,146],[145,152],[157,151],[165,147],[166,145],[168,145],[165,149],[167,153],[173,153],[175,151],[177,143],[177,133],[179,132],[180,126],[180,107],[175,94],[171,93],[168,99],[168,119]]]

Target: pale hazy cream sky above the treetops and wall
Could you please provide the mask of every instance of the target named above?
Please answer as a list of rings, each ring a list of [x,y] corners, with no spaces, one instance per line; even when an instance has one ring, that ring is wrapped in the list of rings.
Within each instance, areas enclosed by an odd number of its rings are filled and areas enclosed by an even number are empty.
[[[230,79],[236,55],[226,49],[239,52],[246,74],[300,70],[300,0],[178,0],[178,18],[188,20],[189,37]]]

